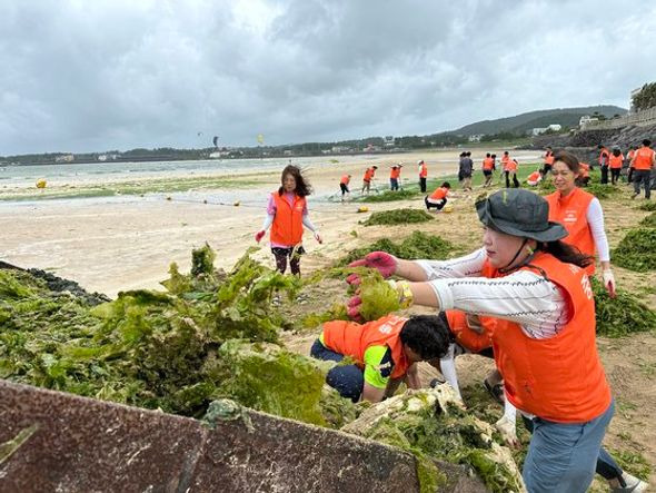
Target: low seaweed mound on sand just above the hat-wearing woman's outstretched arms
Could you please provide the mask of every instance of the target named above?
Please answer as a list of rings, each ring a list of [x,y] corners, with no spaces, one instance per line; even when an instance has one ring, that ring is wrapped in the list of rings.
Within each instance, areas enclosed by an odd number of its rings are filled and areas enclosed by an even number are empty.
[[[444,260],[460,252],[451,243],[441,239],[439,236],[427,235],[421,231],[413,231],[401,243],[395,243],[387,238],[379,239],[372,244],[350,250],[347,256],[338,262],[338,265],[348,265],[354,260],[362,258],[371,252],[387,252],[397,258],[414,260],[418,258],[430,258]]]

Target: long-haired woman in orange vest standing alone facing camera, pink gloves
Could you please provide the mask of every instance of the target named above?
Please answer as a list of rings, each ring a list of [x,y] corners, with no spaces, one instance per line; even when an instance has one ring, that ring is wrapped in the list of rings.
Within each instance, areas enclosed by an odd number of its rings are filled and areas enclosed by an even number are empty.
[[[269,226],[271,227],[271,253],[276,258],[276,268],[285,274],[287,259],[291,274],[300,276],[300,256],[302,248],[302,227],[314,233],[315,239],[322,243],[319,230],[310,220],[306,197],[312,191],[310,184],[294,165],[285,167],[280,180],[282,185],[269,196],[267,217],[262,228],[255,235],[259,243]]]

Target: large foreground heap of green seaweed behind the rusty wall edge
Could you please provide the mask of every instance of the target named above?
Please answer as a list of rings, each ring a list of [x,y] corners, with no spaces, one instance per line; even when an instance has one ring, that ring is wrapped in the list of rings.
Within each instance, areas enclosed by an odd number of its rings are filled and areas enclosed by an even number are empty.
[[[196,275],[172,264],[167,292],[123,292],[96,307],[0,269],[0,377],[196,417],[229,397],[324,424],[325,368],[276,345],[290,324],[271,298],[294,296],[298,279],[248,254],[215,270],[213,255],[193,252]]]

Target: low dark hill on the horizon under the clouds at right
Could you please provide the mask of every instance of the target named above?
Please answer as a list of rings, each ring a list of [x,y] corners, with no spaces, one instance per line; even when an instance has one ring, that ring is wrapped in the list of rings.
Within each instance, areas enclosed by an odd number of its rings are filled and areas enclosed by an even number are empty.
[[[524,134],[526,130],[536,127],[547,127],[550,124],[559,124],[564,127],[574,127],[584,115],[593,115],[597,111],[606,118],[613,118],[615,115],[625,115],[626,109],[618,106],[586,106],[582,108],[556,108],[543,109],[539,111],[529,111],[514,117],[498,118],[496,120],[483,120],[476,124],[469,124],[465,127],[451,130],[449,134],[470,136],[476,134],[499,134],[510,131],[514,134]]]

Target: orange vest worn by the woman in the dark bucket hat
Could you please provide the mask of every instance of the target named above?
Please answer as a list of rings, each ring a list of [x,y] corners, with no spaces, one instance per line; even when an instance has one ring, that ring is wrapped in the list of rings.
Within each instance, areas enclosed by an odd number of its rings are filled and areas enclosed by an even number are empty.
[[[519,324],[497,318],[493,349],[513,405],[557,423],[585,423],[610,405],[610,387],[595,344],[595,302],[583,269],[538,253],[523,270],[543,273],[568,300],[569,321],[547,339],[534,339]],[[488,260],[483,275],[503,277]]]

